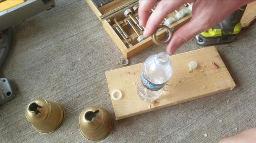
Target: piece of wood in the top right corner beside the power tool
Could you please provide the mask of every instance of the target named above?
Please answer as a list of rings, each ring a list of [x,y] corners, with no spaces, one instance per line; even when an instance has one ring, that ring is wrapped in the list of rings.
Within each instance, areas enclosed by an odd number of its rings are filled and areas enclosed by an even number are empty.
[[[256,21],[256,1],[249,3],[241,19],[242,28],[247,28]]]

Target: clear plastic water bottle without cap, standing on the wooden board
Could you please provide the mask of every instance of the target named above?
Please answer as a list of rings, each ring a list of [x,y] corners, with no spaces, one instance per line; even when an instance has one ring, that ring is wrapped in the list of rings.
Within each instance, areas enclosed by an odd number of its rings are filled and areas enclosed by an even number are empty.
[[[144,101],[156,100],[173,74],[168,53],[160,52],[148,57],[143,65],[137,94]]]

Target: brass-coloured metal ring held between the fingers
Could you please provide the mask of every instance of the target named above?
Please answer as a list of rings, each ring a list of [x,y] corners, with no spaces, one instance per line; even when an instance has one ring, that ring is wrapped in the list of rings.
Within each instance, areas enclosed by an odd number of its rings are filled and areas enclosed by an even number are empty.
[[[168,32],[168,34],[169,34],[167,40],[165,40],[165,41],[160,41],[160,40],[158,40],[158,39],[157,39],[157,36],[156,36],[158,30],[159,30],[159,29],[162,29],[162,28],[167,29],[167,32]],[[154,32],[154,34],[152,35],[152,41],[153,41],[156,45],[165,45],[165,44],[167,44],[168,42],[171,41],[171,29],[170,29],[168,26],[166,26],[166,25],[159,25],[159,26],[157,27],[156,31]]]

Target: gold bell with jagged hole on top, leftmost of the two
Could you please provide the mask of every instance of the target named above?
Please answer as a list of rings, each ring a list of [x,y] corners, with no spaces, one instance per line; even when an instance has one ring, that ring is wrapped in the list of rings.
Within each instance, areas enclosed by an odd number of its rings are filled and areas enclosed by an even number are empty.
[[[58,102],[36,99],[25,109],[26,118],[39,133],[52,133],[64,121],[65,112]]]

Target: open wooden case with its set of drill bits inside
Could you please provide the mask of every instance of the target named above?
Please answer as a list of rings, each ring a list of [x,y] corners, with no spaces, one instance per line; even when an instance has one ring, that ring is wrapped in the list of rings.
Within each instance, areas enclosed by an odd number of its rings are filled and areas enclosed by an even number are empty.
[[[151,45],[168,43],[172,33],[192,17],[192,4],[184,4],[168,14],[156,32],[146,38],[143,36],[145,27],[139,24],[138,0],[86,0],[86,2],[126,58],[136,55]],[[152,7],[150,13],[154,10],[155,7]]]

